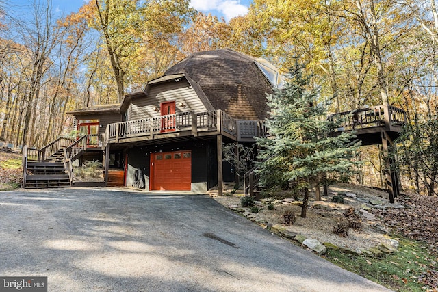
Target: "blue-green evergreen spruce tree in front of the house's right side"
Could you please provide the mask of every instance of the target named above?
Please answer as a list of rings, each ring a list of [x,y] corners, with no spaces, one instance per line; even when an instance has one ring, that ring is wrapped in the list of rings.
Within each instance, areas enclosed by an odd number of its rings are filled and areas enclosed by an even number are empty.
[[[318,92],[308,87],[309,78],[296,64],[285,87],[268,96],[270,137],[257,140],[261,183],[281,187],[293,181],[304,192],[301,217],[306,217],[309,187],[326,174],[352,172],[350,159],[360,145],[350,132],[333,135],[339,126],[327,120],[326,105],[316,104]]]

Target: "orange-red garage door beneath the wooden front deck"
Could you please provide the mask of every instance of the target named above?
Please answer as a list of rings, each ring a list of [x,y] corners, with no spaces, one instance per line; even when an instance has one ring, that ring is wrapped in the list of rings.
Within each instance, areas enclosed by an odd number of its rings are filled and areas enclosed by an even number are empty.
[[[151,155],[151,190],[190,191],[192,152],[160,152]]]

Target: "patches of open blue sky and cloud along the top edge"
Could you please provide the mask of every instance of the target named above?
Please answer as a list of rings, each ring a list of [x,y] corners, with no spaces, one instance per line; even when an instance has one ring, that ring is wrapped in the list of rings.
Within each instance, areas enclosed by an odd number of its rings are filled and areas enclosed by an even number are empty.
[[[77,12],[84,1],[88,0],[52,0],[53,11],[60,16],[65,16],[71,12]],[[34,0],[6,0],[5,2],[9,2],[19,10],[27,10],[34,3]],[[190,6],[205,14],[223,16],[226,21],[229,21],[235,16],[245,15],[250,3],[251,0],[192,0]]]

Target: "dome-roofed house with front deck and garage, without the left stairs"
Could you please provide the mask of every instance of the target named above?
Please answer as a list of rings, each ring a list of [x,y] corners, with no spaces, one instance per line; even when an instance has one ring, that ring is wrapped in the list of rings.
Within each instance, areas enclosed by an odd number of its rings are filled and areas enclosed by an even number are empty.
[[[268,116],[266,94],[280,82],[265,60],[218,49],[186,57],[120,105],[69,114],[89,137],[85,155],[103,152],[105,181],[118,169],[129,187],[205,192],[235,180],[222,144],[255,144]]]

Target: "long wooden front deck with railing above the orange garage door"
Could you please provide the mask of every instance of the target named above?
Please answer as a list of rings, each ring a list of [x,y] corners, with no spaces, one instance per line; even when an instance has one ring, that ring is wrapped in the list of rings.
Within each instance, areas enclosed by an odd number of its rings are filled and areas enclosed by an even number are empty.
[[[184,140],[190,137],[223,135],[238,142],[254,142],[263,135],[262,123],[257,120],[235,120],[223,111],[205,111],[143,118],[108,124],[103,137],[106,144],[133,144],[155,140]]]

